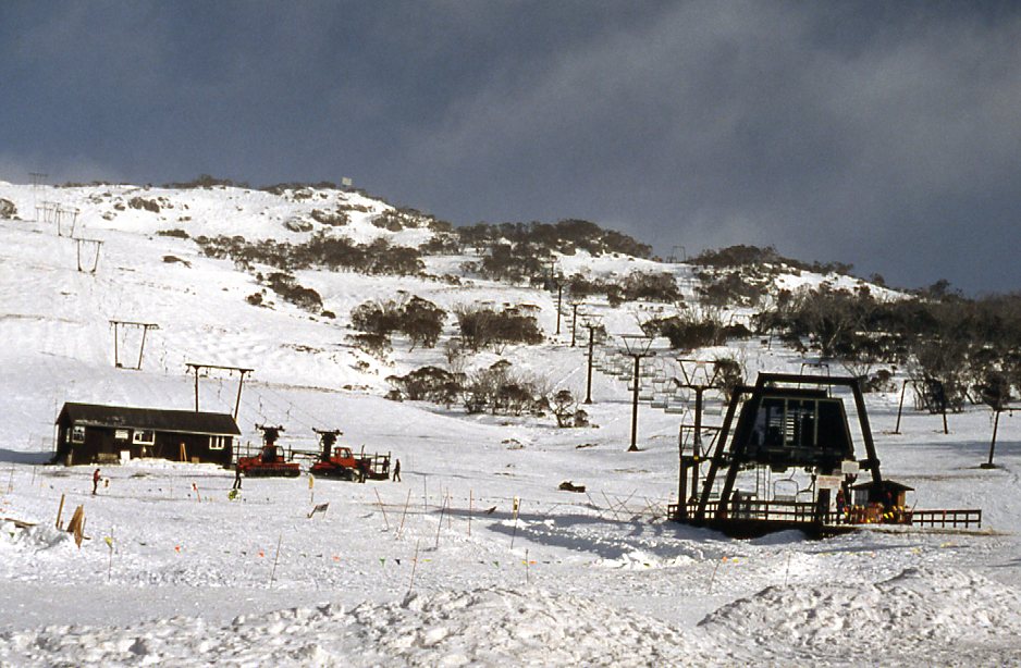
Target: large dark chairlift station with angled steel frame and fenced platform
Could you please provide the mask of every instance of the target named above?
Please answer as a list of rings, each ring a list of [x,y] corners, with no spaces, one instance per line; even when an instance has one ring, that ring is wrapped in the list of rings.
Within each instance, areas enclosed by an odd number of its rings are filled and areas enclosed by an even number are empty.
[[[861,449],[834,388],[853,397]],[[681,445],[682,500],[669,508],[686,524],[736,537],[790,529],[825,536],[878,523],[981,527],[981,510],[908,509],[913,490],[884,480],[854,378],[760,373],[734,389],[712,453],[699,451],[698,437],[692,446]]]

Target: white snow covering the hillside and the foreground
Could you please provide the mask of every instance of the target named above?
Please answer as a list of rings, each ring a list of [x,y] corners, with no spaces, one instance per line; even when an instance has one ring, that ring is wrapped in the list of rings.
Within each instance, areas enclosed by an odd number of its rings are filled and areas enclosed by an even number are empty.
[[[999,468],[985,470],[988,411],[950,416],[944,434],[938,417],[907,407],[894,434],[898,395],[869,397],[885,475],[915,487],[920,508],[982,508],[981,530],[736,541],[674,524],[664,514],[676,500],[685,416],[643,404],[641,451],[626,453],[626,381],[595,372],[594,403],[585,407],[593,426],[556,429],[552,419],[388,401],[386,375],[445,364],[442,350],[396,339],[376,360],[344,341],[352,308],[398,290],[446,309],[532,304],[550,343],[470,364],[502,357],[583,396],[587,341],[579,330],[570,346],[569,318],[553,336],[555,296],[481,280],[452,286],[298,272],[336,313],[330,320],[272,294],[270,308],[254,307],[245,297],[260,286],[250,274],[204,257],[190,240],[155,234],[182,227],[296,240],[310,233],[284,222],[312,208],[386,209],[360,195],[322,195],[295,201],[239,188],[133,186],[34,194],[0,183],[23,219],[33,218],[36,196],[60,201],[82,209],[82,235],[104,240],[93,275],[76,271],[74,244],[52,223],[0,220],[0,665],[1021,663],[1021,446],[1011,418],[1000,420]],[[134,196],[162,197],[173,209],[113,208]],[[352,212],[332,233],[393,234],[370,217]],[[414,233],[401,238],[417,243],[421,232],[396,234]],[[189,264],[164,262],[167,255]],[[456,273],[465,259],[428,264]],[[580,252],[559,261],[565,273],[662,267],[691,275],[685,264]],[[635,307],[592,308],[611,332],[637,331]],[[112,319],[159,323],[140,371],[114,368]],[[121,354],[137,355],[138,339],[123,336]],[[700,356],[787,372],[803,361],[759,341]],[[285,424],[284,443],[304,448],[315,447],[312,428],[341,429],[342,445],[399,457],[404,482],[250,479],[231,500],[232,471],[140,459],[102,467],[109,482],[93,496],[93,467],[45,463],[63,401],[192,408],[187,361],[256,369],[241,403],[245,442],[257,442],[256,422]],[[678,372],[672,360],[656,363]],[[232,411],[236,380],[200,379],[202,408]],[[718,413],[710,397],[706,421]],[[587,492],[559,491],[567,480]],[[62,496],[64,522],[84,507],[81,548],[56,528]],[[327,512],[309,517],[325,503]]]

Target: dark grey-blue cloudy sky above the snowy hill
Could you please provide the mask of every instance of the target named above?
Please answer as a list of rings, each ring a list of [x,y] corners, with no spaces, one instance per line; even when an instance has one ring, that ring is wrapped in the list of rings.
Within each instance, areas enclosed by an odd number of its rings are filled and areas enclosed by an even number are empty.
[[[1021,4],[0,2],[0,178],[333,181],[1021,290]]]

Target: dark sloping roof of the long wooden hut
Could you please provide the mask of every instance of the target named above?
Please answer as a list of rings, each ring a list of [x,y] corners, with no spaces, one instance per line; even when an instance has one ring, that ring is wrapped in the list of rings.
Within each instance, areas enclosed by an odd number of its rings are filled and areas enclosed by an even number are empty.
[[[73,422],[91,426],[151,429],[181,434],[241,435],[237,422],[227,413],[131,408],[69,401],[57,417],[57,423]]]

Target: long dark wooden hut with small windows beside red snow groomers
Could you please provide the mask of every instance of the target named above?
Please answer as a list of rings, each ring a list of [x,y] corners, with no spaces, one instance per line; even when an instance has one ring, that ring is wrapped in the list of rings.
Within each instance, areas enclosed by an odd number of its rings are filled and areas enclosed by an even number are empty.
[[[226,413],[67,403],[57,418],[56,460],[107,463],[128,453],[229,467],[238,436]]]

